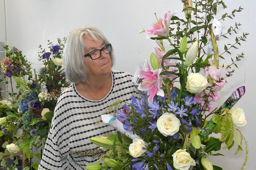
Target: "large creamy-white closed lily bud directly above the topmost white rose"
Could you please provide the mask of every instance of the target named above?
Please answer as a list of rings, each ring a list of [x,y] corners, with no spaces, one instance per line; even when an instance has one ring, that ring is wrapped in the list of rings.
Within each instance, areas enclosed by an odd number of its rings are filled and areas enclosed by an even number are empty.
[[[196,59],[197,52],[198,52],[198,41],[196,40],[185,52],[186,67],[190,66],[191,63]]]

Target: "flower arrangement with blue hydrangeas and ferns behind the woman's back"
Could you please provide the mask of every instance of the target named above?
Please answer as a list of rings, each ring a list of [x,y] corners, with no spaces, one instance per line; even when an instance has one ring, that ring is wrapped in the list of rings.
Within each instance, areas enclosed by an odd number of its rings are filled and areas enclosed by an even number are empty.
[[[9,142],[5,142],[3,147],[6,148],[5,152],[22,151],[28,159],[29,167],[34,169],[38,168],[38,163],[34,162],[33,158],[37,157],[40,160],[41,152],[33,153],[32,148],[42,149],[44,147],[57,99],[64,88],[69,86],[62,68],[62,53],[65,41],[65,37],[63,40],[58,38],[57,45],[54,45],[47,40],[50,52],[46,52],[46,49],[39,45],[38,57],[39,61],[43,62],[39,71],[30,71],[32,70],[31,64],[27,60],[20,60],[21,57],[25,58],[21,52],[17,60],[16,55],[9,57],[8,61],[16,61],[16,63],[24,65],[27,70],[29,69],[26,72],[29,73],[26,75],[29,78],[20,76],[21,74],[15,74],[17,69],[6,69],[6,66],[9,65],[6,58],[2,61],[3,74],[11,75],[10,78],[15,80],[16,89],[19,90],[18,93],[13,93],[16,96],[10,100],[12,103],[10,108],[15,111],[5,112],[7,115],[2,117],[5,123],[0,124],[2,128],[8,127],[7,132],[14,136]],[[13,47],[13,49],[16,48]],[[7,54],[10,53],[8,49],[6,50]],[[9,72],[6,70],[9,70]],[[21,129],[22,132],[8,130],[13,127],[12,124],[16,125],[16,129]],[[15,152],[13,152],[13,148]]]

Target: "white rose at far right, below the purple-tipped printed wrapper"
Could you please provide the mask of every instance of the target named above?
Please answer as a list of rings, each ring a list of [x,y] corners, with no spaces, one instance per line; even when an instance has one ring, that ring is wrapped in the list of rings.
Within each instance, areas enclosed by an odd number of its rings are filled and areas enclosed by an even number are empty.
[[[231,113],[231,116],[232,116],[235,126],[242,127],[242,126],[247,125],[247,121],[245,120],[245,112],[242,108],[233,106],[230,109],[230,113]]]

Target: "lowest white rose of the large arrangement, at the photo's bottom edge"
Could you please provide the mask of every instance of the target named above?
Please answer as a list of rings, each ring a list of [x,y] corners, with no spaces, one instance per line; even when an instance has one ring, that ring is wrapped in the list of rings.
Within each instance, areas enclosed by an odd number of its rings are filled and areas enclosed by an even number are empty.
[[[186,149],[179,149],[172,156],[173,166],[178,170],[188,170],[190,166],[196,165],[195,160],[186,152]]]

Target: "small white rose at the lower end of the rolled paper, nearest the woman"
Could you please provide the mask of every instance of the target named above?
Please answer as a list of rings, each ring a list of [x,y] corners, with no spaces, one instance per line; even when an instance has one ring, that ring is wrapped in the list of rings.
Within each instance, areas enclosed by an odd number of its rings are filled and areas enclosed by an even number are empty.
[[[147,151],[147,145],[142,139],[133,139],[132,144],[129,146],[129,153],[132,157],[140,157],[144,152]]]

